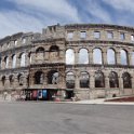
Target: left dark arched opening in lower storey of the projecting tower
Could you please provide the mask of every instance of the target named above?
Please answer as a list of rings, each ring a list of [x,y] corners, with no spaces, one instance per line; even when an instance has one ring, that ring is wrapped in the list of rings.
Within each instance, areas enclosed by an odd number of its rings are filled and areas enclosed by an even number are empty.
[[[44,80],[44,75],[42,71],[37,71],[35,73],[35,84],[42,84]]]

